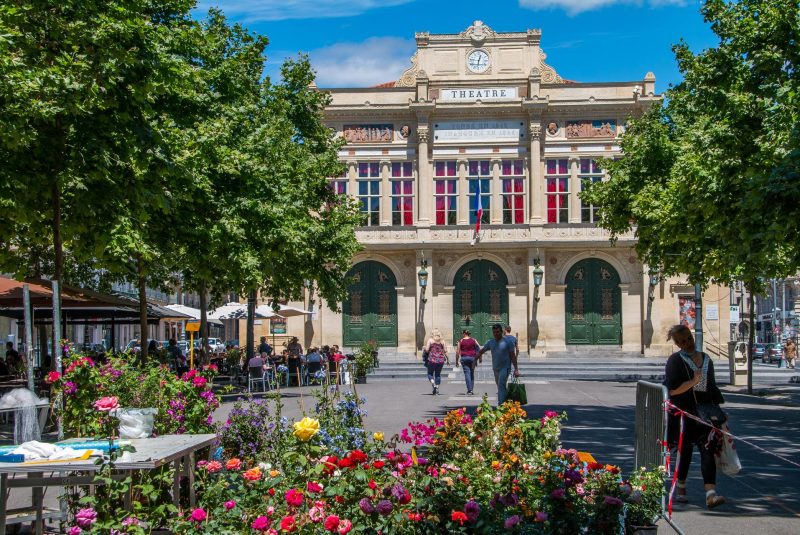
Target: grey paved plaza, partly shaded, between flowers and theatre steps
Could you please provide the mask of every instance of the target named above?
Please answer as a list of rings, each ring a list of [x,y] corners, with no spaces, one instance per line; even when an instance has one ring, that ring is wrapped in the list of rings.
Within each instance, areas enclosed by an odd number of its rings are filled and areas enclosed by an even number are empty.
[[[487,370],[488,371],[488,370]],[[488,374],[478,376],[475,396],[464,395],[460,381],[442,384],[441,394],[432,396],[420,368],[419,381],[382,381],[358,385],[366,398],[366,427],[389,435],[409,421],[441,417],[448,410],[474,408],[486,393],[495,401],[494,384]],[[537,381],[526,378],[528,414],[538,417],[546,409],[569,415],[562,439],[565,447],[591,452],[598,461],[618,464],[627,473],[633,464],[635,383],[596,381]],[[308,387],[284,391],[284,408],[299,416],[301,406],[313,410]],[[718,476],[720,492],[730,502],[714,511],[704,504],[699,456],[695,454],[689,474],[691,503],[676,504],[674,519],[686,534],[768,533],[794,535],[800,532],[800,468],[784,463],[768,452],[800,462],[800,385],[773,386],[767,394],[748,396],[744,389],[725,387],[726,410],[732,431],[755,446],[737,445],[743,470],[736,477]],[[223,420],[232,403],[224,403],[215,414]],[[659,522],[659,533],[671,533]]]

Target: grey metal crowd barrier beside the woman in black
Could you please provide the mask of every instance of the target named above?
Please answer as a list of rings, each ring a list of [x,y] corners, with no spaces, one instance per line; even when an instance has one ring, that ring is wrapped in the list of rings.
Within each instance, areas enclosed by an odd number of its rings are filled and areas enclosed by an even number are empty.
[[[634,427],[634,463],[637,468],[664,466],[670,475],[669,447],[667,446],[667,410],[669,398],[667,387],[657,383],[636,383],[636,420]],[[677,467],[676,467],[677,469]],[[661,518],[666,520],[679,535],[683,531],[675,525],[667,513],[666,491],[661,495]]]

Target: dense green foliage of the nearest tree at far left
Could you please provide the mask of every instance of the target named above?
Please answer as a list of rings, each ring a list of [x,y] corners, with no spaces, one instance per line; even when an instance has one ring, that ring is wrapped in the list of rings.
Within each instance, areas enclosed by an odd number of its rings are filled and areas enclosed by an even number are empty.
[[[65,251],[147,254],[169,53],[191,0],[9,0],[0,5],[0,264],[61,281]],[[174,44],[174,43],[173,43]],[[154,167],[158,168],[154,172]],[[127,211],[126,211],[127,210]],[[123,243],[124,242],[124,243]],[[46,262],[38,262],[36,257]],[[33,266],[49,265],[43,272]],[[146,337],[146,331],[144,331]]]

